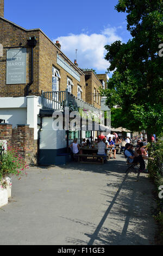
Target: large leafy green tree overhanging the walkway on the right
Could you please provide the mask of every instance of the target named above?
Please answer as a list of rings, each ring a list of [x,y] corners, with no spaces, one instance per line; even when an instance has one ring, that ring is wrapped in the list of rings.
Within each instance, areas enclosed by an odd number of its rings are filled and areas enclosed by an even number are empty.
[[[115,9],[127,13],[132,38],[126,44],[115,41],[105,46],[108,71],[114,73],[102,93],[110,108],[121,106],[127,129],[161,136],[163,57],[158,52],[163,42],[163,1],[119,0]],[[120,111],[116,112],[118,117]]]

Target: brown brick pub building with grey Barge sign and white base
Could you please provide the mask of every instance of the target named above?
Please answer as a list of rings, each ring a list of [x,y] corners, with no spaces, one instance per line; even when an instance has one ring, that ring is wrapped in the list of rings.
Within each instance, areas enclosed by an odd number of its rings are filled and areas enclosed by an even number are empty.
[[[54,44],[40,28],[25,29],[5,19],[4,0],[0,0],[0,44],[0,122],[11,124],[12,130],[24,124],[33,140],[26,141],[30,151],[38,152],[41,163],[56,163],[66,150],[68,133],[52,131],[53,111],[64,113],[71,102],[98,111],[103,78],[78,68],[61,51],[59,41]],[[86,132],[77,134],[81,141]]]

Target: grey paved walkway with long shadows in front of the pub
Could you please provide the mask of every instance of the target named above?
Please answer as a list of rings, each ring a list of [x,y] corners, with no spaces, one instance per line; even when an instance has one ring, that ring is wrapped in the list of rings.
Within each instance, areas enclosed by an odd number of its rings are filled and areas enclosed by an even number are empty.
[[[121,155],[104,165],[30,168],[12,180],[0,209],[0,245],[153,244],[153,184],[126,168]]]

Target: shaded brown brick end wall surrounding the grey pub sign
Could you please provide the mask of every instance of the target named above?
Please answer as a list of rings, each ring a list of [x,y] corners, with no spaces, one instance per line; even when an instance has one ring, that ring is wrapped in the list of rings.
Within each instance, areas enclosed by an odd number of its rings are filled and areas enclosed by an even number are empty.
[[[0,96],[12,97],[12,96],[26,96],[27,84],[31,81],[31,53],[32,50],[27,45],[29,37],[36,36],[37,45],[34,47],[33,59],[34,59],[34,82],[30,89],[32,94],[39,96],[39,30],[26,31],[21,27],[15,26],[12,23],[0,18],[0,44],[3,45],[3,57],[0,61]],[[26,84],[6,84],[6,58],[7,49],[5,47],[24,46],[27,48],[27,60],[26,60]]]

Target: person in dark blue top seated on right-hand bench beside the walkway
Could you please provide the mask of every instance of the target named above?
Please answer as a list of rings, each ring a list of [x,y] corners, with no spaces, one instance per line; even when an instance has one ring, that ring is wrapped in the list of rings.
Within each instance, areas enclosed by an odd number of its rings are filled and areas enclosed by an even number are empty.
[[[144,172],[146,166],[145,166],[145,161],[144,161],[143,158],[142,158],[142,155],[139,155],[139,156],[133,155],[133,154],[131,153],[131,151],[130,151],[130,147],[131,147],[130,143],[127,143],[127,144],[126,144],[126,150],[124,151],[124,155],[126,155],[128,161],[129,161],[129,163],[136,163],[136,164],[137,164],[137,163],[140,163],[140,169],[139,169],[139,171],[140,171],[140,172]]]

